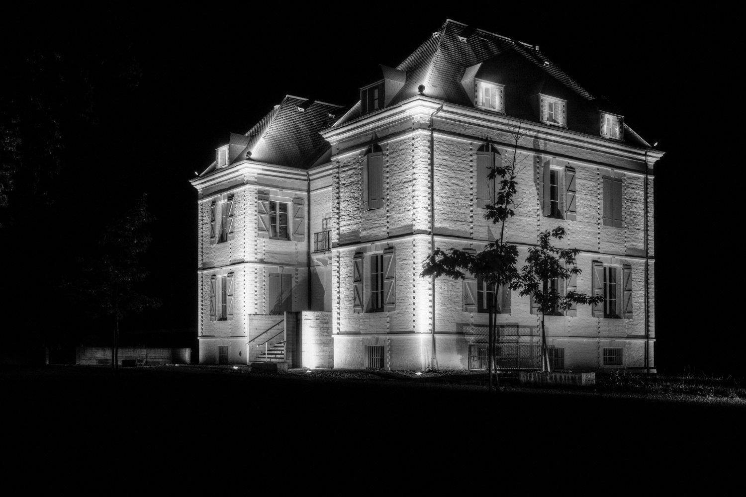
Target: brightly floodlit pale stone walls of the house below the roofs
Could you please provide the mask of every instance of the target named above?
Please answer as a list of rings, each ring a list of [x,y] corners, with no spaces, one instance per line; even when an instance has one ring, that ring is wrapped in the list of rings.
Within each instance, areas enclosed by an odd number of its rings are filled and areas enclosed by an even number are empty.
[[[451,28],[453,23],[447,23],[439,36]],[[407,72],[407,84],[409,78]],[[248,317],[272,312],[269,273],[279,273],[292,282],[286,310],[313,311],[301,316],[301,335],[304,329],[313,330],[298,341],[303,366],[372,367],[374,351],[383,361],[376,366],[385,369],[474,369],[473,347],[486,342],[488,315],[465,310],[462,281],[441,278],[433,287],[431,279],[419,275],[434,248],[481,250],[499,236],[477,201],[477,151],[489,139],[499,159],[513,153],[521,157],[515,216],[506,227],[507,240],[521,255],[519,267],[540,232],[562,226],[568,232],[562,244],[580,250],[577,265],[583,272],[577,276],[577,291],[593,293],[594,264],[618,268],[620,275],[621,268],[631,271],[629,284],[618,287],[631,299],[624,316],[600,317],[591,307],[578,306],[577,315],[546,317],[548,344],[562,349],[562,369],[654,366],[652,173],[662,153],[642,139],[610,140],[542,124],[538,115],[525,121],[448,100],[425,89],[367,115],[354,115],[360,106],[353,107],[316,131],[327,151],[305,168],[259,162],[248,153],[227,168],[192,180],[199,192],[201,362],[213,361],[218,341],[241,350],[249,336]],[[571,117],[572,104],[569,100]],[[518,123],[527,132],[515,143],[512,132]],[[627,133],[633,136],[628,128]],[[367,165],[372,151],[382,156],[375,179]],[[550,167],[562,171],[561,191],[567,188],[567,171],[574,170],[574,219],[545,215],[545,168]],[[604,222],[609,200],[604,199],[604,178],[621,184],[621,226]],[[374,180],[380,181],[382,202],[366,209],[364,198],[371,191],[366,185]],[[227,194],[233,194],[233,236],[215,243],[210,209],[213,200],[220,202]],[[257,225],[266,195],[288,205],[302,200],[302,239],[263,238]],[[380,254],[392,259],[380,259]],[[372,271],[381,260],[392,261],[382,280],[386,304],[372,311],[377,281]],[[211,278],[229,272],[233,314],[229,320],[213,320]],[[319,317],[322,324],[311,326]],[[531,313],[528,298],[513,292],[510,313],[500,314],[498,323],[507,343],[531,346],[540,319]],[[606,360],[604,349],[621,349],[615,352],[621,355]],[[238,362],[247,356],[229,355]]]

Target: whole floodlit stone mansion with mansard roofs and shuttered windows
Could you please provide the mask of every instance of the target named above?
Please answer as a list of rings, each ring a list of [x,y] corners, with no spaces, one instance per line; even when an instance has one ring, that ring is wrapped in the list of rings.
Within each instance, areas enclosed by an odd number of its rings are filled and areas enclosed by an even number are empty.
[[[479,251],[499,237],[483,218],[487,174],[515,153],[506,237],[518,268],[540,232],[561,226],[582,270],[562,290],[604,296],[546,317],[553,367],[654,367],[662,152],[624,115],[539,47],[450,19],[361,83],[351,108],[286,96],[192,180],[200,362],[484,369],[485,302],[497,291],[498,366],[538,367],[529,297],[420,276],[438,247]]]

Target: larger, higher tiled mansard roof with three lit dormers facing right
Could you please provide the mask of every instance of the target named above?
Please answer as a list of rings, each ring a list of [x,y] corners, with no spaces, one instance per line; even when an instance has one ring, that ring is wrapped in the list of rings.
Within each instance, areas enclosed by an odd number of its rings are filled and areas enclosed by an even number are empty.
[[[475,67],[480,65],[481,67]],[[491,66],[496,77],[506,77],[521,85],[520,95],[515,101],[525,104],[527,93],[544,92],[557,98],[577,103],[568,114],[580,110],[583,113],[578,131],[598,134],[598,111],[614,112],[605,101],[596,100],[586,89],[548,59],[539,48],[524,42],[503,37],[447,19],[439,31],[433,33],[396,69],[406,73],[404,86],[392,98],[387,98],[387,107],[407,101],[419,94],[419,86],[424,85],[424,95],[451,104],[474,107],[474,99],[467,95],[461,81],[468,69],[484,72],[484,66]],[[518,77],[515,73],[520,72]],[[472,75],[474,76],[474,75]],[[493,78],[494,79],[494,78]],[[498,82],[498,81],[495,81]],[[368,82],[366,82],[368,83]],[[361,85],[364,86],[364,85]],[[516,86],[514,86],[514,89]],[[510,95],[506,95],[506,101]],[[538,121],[532,110],[524,108],[508,109],[507,115]],[[580,115],[580,114],[577,114]],[[336,126],[360,118],[360,102],[354,105]],[[590,120],[593,124],[590,126]],[[586,122],[588,121],[588,122]],[[588,127],[588,129],[586,129]],[[570,129],[573,129],[570,127]],[[637,146],[650,146],[624,124],[624,141]]]

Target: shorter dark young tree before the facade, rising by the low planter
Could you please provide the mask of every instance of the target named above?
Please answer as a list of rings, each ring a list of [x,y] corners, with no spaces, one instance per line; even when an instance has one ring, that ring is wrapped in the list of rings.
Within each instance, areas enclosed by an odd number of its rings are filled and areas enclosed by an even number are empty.
[[[563,292],[560,283],[581,273],[575,265],[575,258],[580,250],[562,249],[550,244],[551,238],[561,240],[565,237],[565,228],[557,227],[551,232],[539,235],[539,244],[528,249],[526,265],[521,268],[518,277],[511,284],[513,290],[519,290],[519,295],[529,295],[533,305],[542,313],[542,372],[551,371],[547,349],[547,335],[544,326],[546,314],[559,314],[577,306],[577,304],[596,304],[604,300],[601,295],[589,297],[577,291]]]

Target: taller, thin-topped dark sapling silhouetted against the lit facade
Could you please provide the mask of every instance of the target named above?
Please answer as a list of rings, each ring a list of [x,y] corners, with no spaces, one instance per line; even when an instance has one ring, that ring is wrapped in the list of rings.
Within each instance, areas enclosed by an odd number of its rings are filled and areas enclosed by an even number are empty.
[[[530,156],[518,151],[518,142],[527,136],[533,127],[525,127],[523,121],[513,121],[510,124],[510,136],[512,137],[512,151],[498,163],[495,161],[489,167],[488,180],[492,182],[492,203],[486,205],[484,218],[492,221],[492,224],[500,225],[500,238],[486,244],[480,253],[471,250],[436,248],[433,253],[425,259],[422,265],[421,276],[448,276],[452,279],[466,279],[467,274],[474,275],[489,287],[495,290],[502,285],[510,285],[518,276],[516,262],[518,260],[518,248],[505,241],[505,224],[513,215],[514,198],[516,193],[516,177],[521,172],[521,165]],[[486,142],[488,151],[492,150],[489,138]],[[499,154],[495,154],[499,156]],[[497,178],[499,188],[497,187]],[[497,377],[495,364],[495,350],[497,348],[497,314],[498,314],[498,292],[492,292],[492,298],[488,303],[489,325],[488,325],[488,369],[489,390],[492,391],[493,373]],[[434,366],[434,364],[433,364]]]

